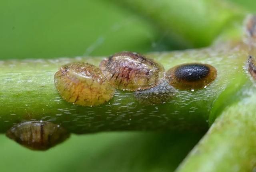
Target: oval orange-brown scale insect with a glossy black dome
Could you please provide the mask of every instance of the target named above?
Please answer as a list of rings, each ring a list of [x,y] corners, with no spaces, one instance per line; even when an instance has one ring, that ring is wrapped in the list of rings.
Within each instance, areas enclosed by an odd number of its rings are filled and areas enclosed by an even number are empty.
[[[178,65],[166,72],[169,84],[183,90],[204,88],[214,81],[216,76],[216,68],[199,63]]]

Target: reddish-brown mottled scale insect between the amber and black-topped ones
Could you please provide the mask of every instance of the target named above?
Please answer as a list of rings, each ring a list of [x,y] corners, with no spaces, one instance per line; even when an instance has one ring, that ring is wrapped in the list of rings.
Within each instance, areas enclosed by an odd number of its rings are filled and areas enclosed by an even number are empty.
[[[164,76],[162,65],[131,52],[116,53],[104,59],[100,69],[112,86],[129,91],[156,86]]]

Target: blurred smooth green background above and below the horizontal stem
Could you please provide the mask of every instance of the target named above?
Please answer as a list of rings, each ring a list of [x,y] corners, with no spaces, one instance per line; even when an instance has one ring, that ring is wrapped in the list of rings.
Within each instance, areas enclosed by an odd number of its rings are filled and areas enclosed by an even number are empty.
[[[256,1],[234,0],[248,11]],[[182,49],[154,23],[106,0],[0,0],[0,60]],[[172,171],[203,133],[72,135],[46,152],[0,135],[1,172]]]

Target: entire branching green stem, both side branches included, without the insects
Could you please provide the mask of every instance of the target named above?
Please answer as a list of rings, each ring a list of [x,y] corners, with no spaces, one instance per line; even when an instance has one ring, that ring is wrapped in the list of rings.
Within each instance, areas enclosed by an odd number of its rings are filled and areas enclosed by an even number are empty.
[[[124,0],[156,23],[177,44],[186,47],[240,39],[242,10],[220,0]],[[221,41],[220,41],[221,40]],[[250,52],[237,41],[210,48],[146,56],[169,68],[182,63],[214,66],[216,80],[200,90],[178,90],[172,100],[143,105],[134,92],[116,90],[114,98],[95,107],[64,101],[54,86],[60,66],[83,61],[99,65],[104,57],[0,61],[0,133],[22,121],[51,121],[71,133],[129,130],[194,130],[206,136],[178,172],[252,171],[256,166],[255,83],[245,70]],[[209,121],[210,120],[210,121]],[[210,122],[210,123],[209,123]]]

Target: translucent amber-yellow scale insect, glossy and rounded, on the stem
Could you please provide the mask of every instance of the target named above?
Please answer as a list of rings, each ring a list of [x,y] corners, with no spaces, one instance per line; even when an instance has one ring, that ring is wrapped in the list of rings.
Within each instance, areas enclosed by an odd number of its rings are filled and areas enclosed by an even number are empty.
[[[100,69],[88,63],[62,66],[54,75],[54,83],[64,100],[81,106],[97,106],[114,95]]]

